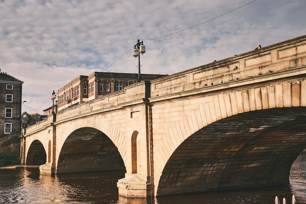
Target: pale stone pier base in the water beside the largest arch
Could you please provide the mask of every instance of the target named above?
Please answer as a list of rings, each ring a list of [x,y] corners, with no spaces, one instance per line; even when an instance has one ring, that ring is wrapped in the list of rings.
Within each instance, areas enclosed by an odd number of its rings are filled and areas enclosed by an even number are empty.
[[[130,198],[146,198],[151,196],[151,184],[137,175],[127,176],[117,182],[118,193]]]

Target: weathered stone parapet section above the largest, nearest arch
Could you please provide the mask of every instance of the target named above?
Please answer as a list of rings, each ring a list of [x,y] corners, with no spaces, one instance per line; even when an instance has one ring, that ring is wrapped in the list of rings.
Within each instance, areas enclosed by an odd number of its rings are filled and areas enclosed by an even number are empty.
[[[305,72],[306,35],[153,80],[150,101],[273,80],[276,72],[287,72],[285,77],[293,69]]]

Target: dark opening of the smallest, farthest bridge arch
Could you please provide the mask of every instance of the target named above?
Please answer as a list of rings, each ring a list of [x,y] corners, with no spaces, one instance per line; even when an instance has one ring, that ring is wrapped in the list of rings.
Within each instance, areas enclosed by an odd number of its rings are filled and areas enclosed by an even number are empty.
[[[26,158],[26,165],[42,165],[47,162],[47,154],[43,144],[39,140],[34,140],[29,149]]]

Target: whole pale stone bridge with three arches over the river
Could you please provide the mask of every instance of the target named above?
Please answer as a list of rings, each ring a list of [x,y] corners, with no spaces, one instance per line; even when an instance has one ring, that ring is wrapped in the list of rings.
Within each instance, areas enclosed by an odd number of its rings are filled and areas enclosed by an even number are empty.
[[[51,115],[21,136],[45,173],[125,170],[119,195],[289,182],[306,148],[306,35]]]

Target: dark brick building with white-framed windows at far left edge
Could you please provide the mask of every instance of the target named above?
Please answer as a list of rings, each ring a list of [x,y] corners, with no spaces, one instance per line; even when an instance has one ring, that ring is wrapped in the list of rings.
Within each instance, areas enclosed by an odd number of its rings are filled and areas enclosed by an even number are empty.
[[[20,129],[22,83],[0,69],[0,139]]]

